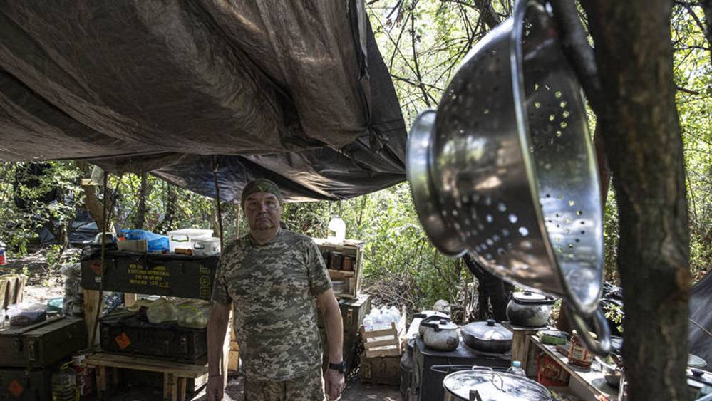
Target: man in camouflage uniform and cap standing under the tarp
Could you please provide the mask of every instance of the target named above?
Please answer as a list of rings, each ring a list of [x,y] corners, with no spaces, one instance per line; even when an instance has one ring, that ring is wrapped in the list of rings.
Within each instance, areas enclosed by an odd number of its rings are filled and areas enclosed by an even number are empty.
[[[247,184],[242,207],[250,234],[226,247],[215,275],[208,400],[222,399],[220,357],[232,301],[246,401],[335,400],[344,387],[343,326],[319,248],[308,236],[280,228],[282,195],[273,182]],[[331,364],[323,377],[316,300],[329,340]]]

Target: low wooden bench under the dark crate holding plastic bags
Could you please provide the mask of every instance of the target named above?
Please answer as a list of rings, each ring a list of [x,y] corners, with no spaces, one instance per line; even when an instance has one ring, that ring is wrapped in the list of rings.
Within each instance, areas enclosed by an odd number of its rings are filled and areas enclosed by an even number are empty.
[[[109,374],[106,368],[112,369],[110,377],[113,387],[119,384],[118,373],[116,372],[119,368],[163,373],[163,400],[171,401],[185,400],[187,379],[195,379],[196,382],[202,384],[207,382],[208,376],[207,364],[190,365],[135,355],[95,353],[86,358],[86,364],[96,367],[98,398],[101,398],[102,392],[109,387]]]

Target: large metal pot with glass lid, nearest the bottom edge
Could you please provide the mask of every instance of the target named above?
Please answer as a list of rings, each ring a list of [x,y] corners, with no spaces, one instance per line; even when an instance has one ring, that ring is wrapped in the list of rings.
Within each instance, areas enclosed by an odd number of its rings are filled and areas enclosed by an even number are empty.
[[[450,373],[443,380],[444,401],[550,401],[546,387],[526,377],[497,373],[475,366],[472,370]],[[475,395],[475,392],[477,393]]]

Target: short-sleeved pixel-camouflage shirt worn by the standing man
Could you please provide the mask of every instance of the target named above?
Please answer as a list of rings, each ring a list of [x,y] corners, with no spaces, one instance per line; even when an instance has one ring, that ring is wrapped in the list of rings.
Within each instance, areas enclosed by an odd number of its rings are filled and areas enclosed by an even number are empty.
[[[319,247],[308,236],[280,229],[264,245],[247,235],[227,246],[212,300],[237,303],[245,375],[283,381],[321,366],[315,297],[329,288]]]

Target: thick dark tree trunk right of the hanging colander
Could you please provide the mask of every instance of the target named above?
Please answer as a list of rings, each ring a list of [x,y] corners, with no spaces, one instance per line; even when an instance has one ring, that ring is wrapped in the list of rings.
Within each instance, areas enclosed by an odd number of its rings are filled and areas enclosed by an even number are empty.
[[[689,233],[669,0],[582,0],[619,208],[630,400],[687,400]]]

